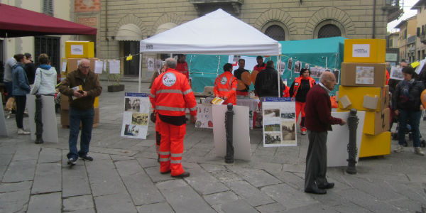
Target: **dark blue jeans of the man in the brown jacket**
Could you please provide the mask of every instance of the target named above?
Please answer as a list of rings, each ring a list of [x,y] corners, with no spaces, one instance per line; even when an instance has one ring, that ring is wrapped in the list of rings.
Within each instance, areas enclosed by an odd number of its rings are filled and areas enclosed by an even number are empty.
[[[67,158],[75,158],[87,155],[89,152],[89,143],[92,138],[94,109],[78,110],[70,107],[70,153]],[[80,121],[82,124],[82,135],[80,137],[80,151],[77,152],[77,139],[80,131]]]

